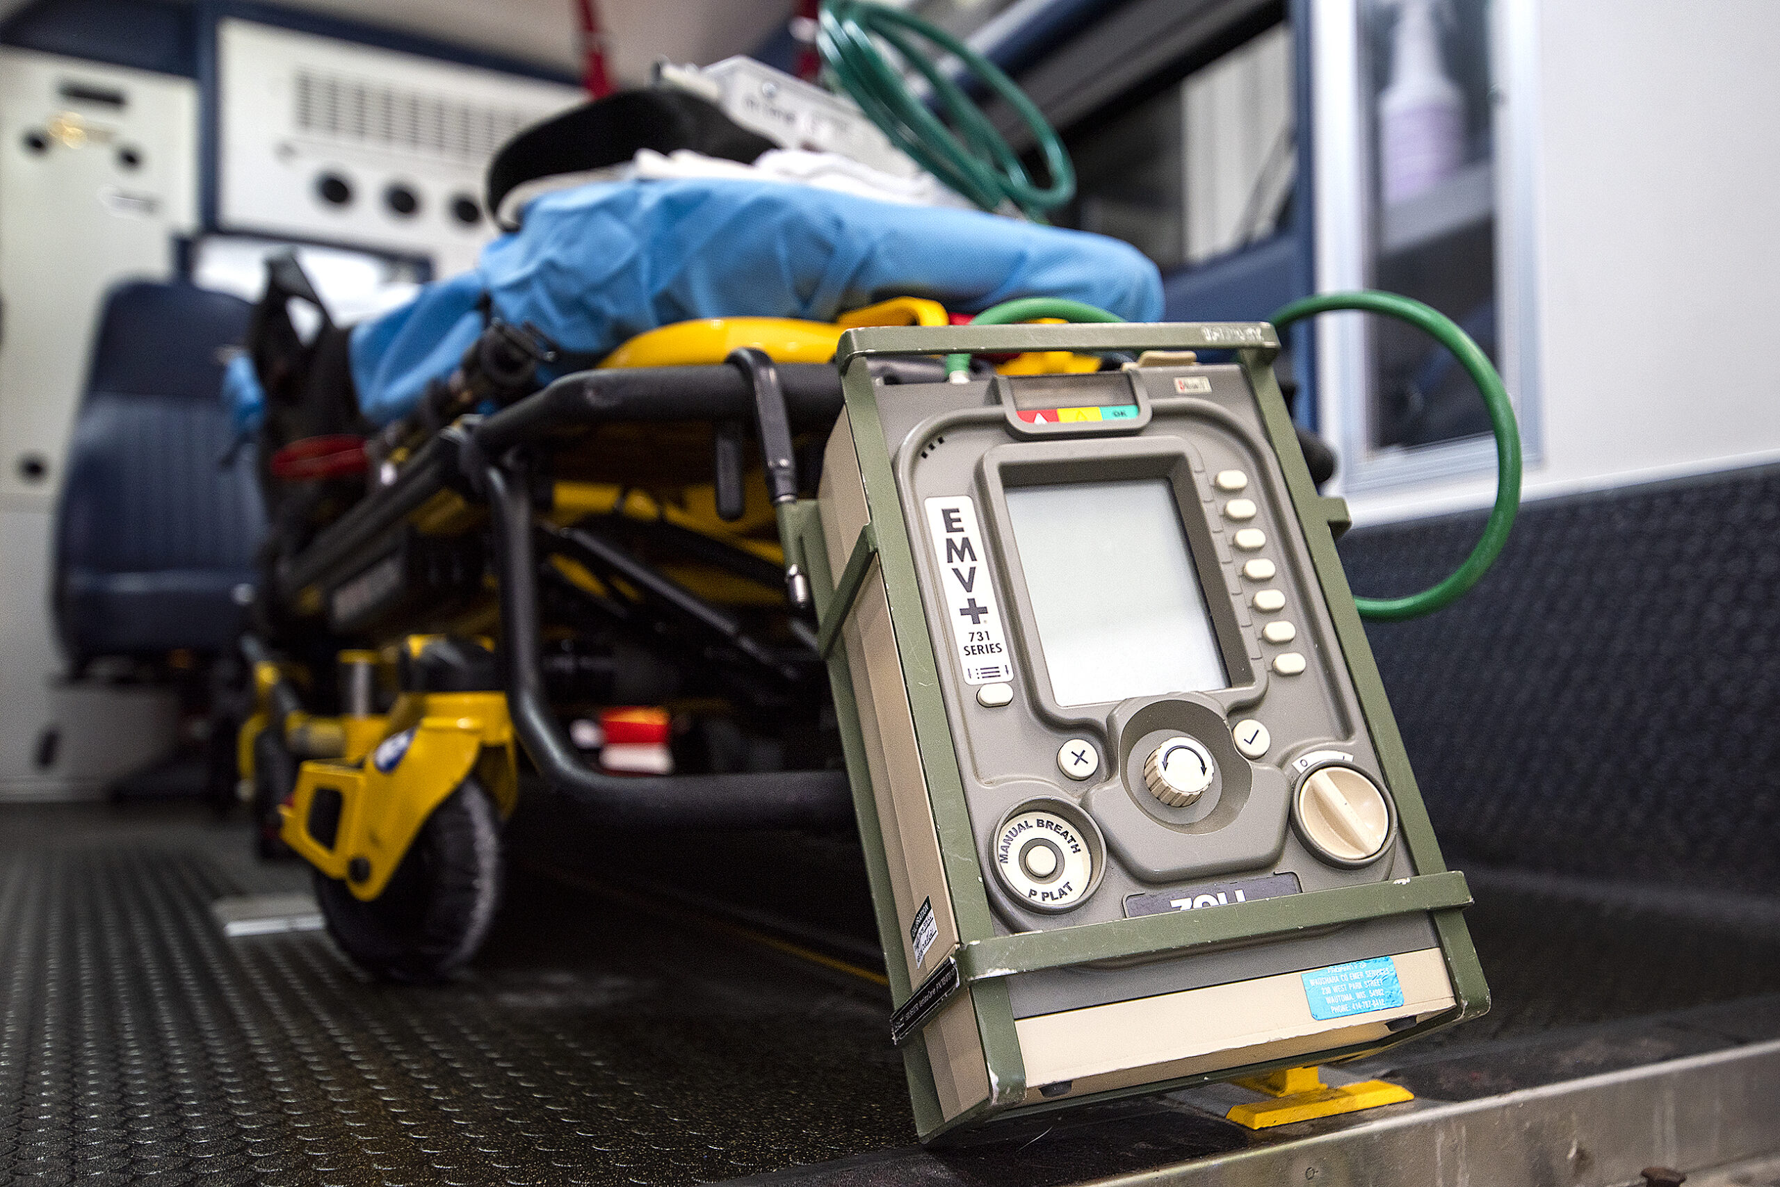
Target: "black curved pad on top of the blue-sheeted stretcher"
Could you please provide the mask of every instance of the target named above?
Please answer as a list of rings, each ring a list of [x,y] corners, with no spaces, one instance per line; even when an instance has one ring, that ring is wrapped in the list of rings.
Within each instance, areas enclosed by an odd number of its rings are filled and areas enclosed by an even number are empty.
[[[488,164],[488,210],[500,221],[500,203],[527,182],[562,173],[605,169],[630,160],[639,148],[671,153],[689,148],[707,157],[751,164],[778,148],[689,91],[655,87],[619,91],[507,141]],[[518,222],[500,222],[507,231]]]

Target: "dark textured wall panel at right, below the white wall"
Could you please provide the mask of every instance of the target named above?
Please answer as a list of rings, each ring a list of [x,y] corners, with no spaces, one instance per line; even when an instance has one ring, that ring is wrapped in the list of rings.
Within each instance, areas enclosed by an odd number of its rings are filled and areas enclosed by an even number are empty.
[[[1481,523],[1353,532],[1347,575],[1422,587]],[[1780,468],[1531,504],[1468,598],[1371,637],[1449,856],[1780,888]]]

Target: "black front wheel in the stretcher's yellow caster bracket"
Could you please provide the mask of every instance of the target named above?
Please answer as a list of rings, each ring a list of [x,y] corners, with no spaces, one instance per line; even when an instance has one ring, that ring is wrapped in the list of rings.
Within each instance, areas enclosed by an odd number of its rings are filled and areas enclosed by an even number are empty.
[[[315,874],[328,931],[384,981],[443,981],[482,947],[500,900],[500,813],[473,778],[420,826],[383,893],[365,902]]]

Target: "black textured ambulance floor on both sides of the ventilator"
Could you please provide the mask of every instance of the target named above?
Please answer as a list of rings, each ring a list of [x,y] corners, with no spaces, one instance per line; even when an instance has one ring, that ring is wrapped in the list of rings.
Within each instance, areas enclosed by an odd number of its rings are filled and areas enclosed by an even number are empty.
[[[778,936],[856,966],[856,851],[614,844],[527,803],[514,852],[538,865],[445,988],[368,982],[320,933],[224,938],[217,897],[306,884],[251,860],[239,824],[0,808],[0,1182],[673,1187],[796,1166],[851,1182],[867,1157],[883,1183],[1050,1185],[1276,1141],[1175,1094],[910,1150],[885,991],[698,909],[796,906]],[[1495,1009],[1376,1068],[1424,1096],[1780,1034],[1780,998],[1750,1000],[1780,991],[1771,899],[1488,868],[1474,892]],[[1677,1009],[1698,1016],[1645,1021]]]

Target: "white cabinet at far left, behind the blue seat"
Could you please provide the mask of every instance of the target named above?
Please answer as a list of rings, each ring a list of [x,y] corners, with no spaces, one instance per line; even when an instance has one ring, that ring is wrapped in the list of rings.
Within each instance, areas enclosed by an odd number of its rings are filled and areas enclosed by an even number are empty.
[[[173,744],[169,692],[61,682],[50,543],[100,304],[173,272],[196,139],[187,78],[0,48],[0,799],[96,790]]]

